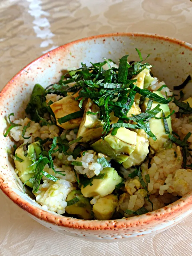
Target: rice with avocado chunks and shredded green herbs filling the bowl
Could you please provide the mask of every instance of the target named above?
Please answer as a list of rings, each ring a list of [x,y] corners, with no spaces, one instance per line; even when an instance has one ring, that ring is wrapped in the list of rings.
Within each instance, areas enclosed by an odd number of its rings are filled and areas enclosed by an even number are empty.
[[[81,63],[58,83],[36,84],[27,117],[12,122],[9,115],[9,156],[44,209],[117,219],[192,190],[192,99],[174,96],[136,50],[140,61],[125,55],[119,65],[105,58]]]

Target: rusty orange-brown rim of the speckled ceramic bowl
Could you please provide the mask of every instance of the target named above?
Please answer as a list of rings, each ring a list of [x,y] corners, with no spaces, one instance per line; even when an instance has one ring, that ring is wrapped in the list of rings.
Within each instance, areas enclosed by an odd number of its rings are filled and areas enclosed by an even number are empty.
[[[13,78],[10,79],[10,81],[5,85],[5,87],[0,92],[0,98],[6,97],[6,91],[8,87],[13,86],[13,82],[18,76],[20,76],[25,69],[30,67],[32,63],[35,63],[38,60],[43,59],[44,57],[49,57],[49,55],[54,54],[55,52],[58,52],[60,49],[66,49],[67,47],[70,47],[73,44],[77,44],[79,42],[85,42],[89,40],[95,40],[98,38],[106,38],[106,37],[150,37],[153,39],[158,39],[162,41],[169,41],[170,43],[178,44],[182,47],[185,47],[187,49],[190,49],[192,51],[192,45],[190,43],[181,41],[179,39],[158,35],[158,34],[149,34],[149,33],[110,33],[110,34],[102,34],[102,35],[94,35],[90,37],[85,37],[82,39],[78,39],[69,43],[66,43],[65,45],[59,46],[43,55],[35,59],[34,61],[31,61],[28,65],[26,65],[23,69],[21,69]],[[0,103],[1,105],[1,103]],[[145,227],[147,224],[150,224],[152,222],[162,223],[167,218],[173,218],[173,216],[178,216],[179,213],[183,213],[189,209],[189,207],[192,205],[192,192],[185,195],[184,197],[178,199],[176,202],[169,204],[168,206],[165,206],[163,208],[160,208],[158,210],[124,219],[115,219],[115,220],[107,220],[107,221],[99,221],[99,220],[82,220],[82,219],[76,219],[72,217],[65,217],[59,214],[52,213],[51,211],[45,211],[42,209],[39,209],[38,207],[32,205],[31,203],[27,202],[25,199],[22,199],[21,196],[19,196],[17,193],[13,191],[11,187],[2,179],[0,176],[0,188],[3,191],[7,197],[11,199],[15,204],[17,204],[20,208],[27,211],[29,214],[37,217],[38,219],[41,219],[43,221],[52,223],[54,225],[73,228],[73,229],[86,229],[86,230],[117,230],[122,228],[131,228],[131,227],[137,227],[143,226]],[[170,218],[170,219],[171,219]]]

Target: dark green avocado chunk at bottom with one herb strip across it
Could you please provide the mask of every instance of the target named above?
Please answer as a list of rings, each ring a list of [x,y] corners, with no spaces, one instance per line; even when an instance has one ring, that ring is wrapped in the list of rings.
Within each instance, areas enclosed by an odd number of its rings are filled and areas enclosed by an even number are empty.
[[[79,201],[77,203],[74,203],[73,205],[66,206],[65,211],[68,214],[77,215],[77,217],[81,219],[92,219],[92,206],[89,202],[89,199],[81,194],[81,190],[72,190],[67,195],[66,202],[70,201],[75,197],[78,197]]]

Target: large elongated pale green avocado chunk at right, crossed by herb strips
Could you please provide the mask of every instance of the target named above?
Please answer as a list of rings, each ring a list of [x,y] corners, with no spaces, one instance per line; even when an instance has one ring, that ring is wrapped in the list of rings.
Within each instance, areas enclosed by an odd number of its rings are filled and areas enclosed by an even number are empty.
[[[160,91],[153,91],[153,93],[159,95],[160,97],[164,98],[162,93]],[[145,100],[145,102],[142,104],[142,110],[145,112],[146,107],[147,107],[147,102],[148,99]],[[160,108],[163,110],[165,116],[167,117],[170,114],[170,109],[167,104],[163,103],[158,103],[158,102],[153,102],[151,109],[157,106],[157,104],[160,104]],[[156,117],[162,117],[162,111],[159,112]],[[172,128],[171,128],[171,117],[167,118],[167,123],[169,126],[169,131],[172,133]],[[157,137],[157,140],[154,141],[151,137],[149,137],[149,145],[155,150],[155,151],[161,151],[164,149],[165,143],[168,141],[168,134],[165,133],[165,127],[164,127],[164,122],[163,119],[155,119],[151,118],[149,120],[150,123],[150,129],[152,133],[155,134]]]

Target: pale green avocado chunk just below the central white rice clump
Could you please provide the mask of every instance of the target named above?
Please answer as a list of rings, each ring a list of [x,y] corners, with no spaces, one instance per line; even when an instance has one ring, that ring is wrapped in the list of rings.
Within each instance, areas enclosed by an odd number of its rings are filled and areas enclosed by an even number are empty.
[[[91,181],[93,185],[81,186],[81,193],[84,197],[96,197],[97,195],[104,197],[111,194],[115,186],[123,181],[114,168],[106,167],[100,173],[105,173],[103,179],[93,178],[93,181]]]

